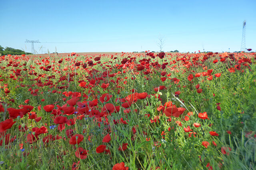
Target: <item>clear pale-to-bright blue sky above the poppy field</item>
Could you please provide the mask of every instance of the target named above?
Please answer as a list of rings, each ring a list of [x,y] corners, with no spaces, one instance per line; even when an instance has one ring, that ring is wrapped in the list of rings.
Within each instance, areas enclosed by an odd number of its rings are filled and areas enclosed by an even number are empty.
[[[0,45],[31,52],[256,51],[256,0],[0,0]],[[47,43],[46,43],[47,42]],[[39,51],[40,47],[41,50]]]

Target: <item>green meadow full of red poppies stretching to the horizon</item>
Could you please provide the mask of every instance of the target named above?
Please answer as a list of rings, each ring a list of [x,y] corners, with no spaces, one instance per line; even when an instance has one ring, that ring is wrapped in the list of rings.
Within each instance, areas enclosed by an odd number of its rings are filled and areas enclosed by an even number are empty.
[[[256,53],[0,56],[2,170],[255,170]]]

